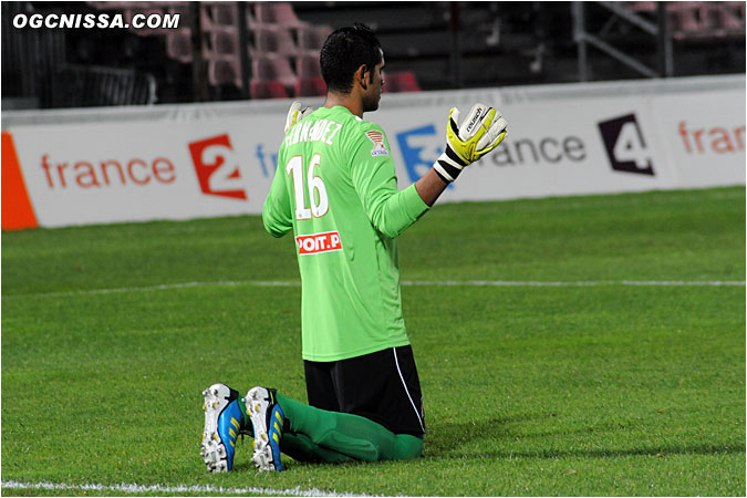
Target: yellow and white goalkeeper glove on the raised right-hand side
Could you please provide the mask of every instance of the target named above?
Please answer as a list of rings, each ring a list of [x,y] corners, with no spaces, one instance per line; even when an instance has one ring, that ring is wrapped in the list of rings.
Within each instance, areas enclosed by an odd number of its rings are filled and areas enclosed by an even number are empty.
[[[475,104],[459,124],[459,110],[452,107],[446,125],[446,151],[433,165],[447,184],[454,181],[465,166],[496,148],[506,137],[508,123],[495,108]]]

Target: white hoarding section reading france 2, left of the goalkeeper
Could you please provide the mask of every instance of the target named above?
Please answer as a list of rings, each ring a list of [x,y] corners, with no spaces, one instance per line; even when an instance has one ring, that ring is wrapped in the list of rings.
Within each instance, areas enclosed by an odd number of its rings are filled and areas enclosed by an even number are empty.
[[[41,226],[186,219],[261,212],[282,131],[257,122],[48,125],[13,137]]]

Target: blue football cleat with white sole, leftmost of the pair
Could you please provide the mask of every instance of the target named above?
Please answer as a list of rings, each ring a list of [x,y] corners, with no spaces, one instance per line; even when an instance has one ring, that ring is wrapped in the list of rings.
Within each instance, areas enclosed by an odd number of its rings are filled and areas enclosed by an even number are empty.
[[[209,471],[227,473],[234,468],[236,439],[243,425],[239,392],[226,384],[212,384],[203,391],[203,396],[205,429],[200,453]]]

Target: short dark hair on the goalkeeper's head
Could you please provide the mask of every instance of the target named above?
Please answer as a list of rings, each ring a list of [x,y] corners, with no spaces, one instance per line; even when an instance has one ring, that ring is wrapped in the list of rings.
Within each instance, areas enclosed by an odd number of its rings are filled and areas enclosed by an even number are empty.
[[[378,39],[365,24],[356,22],[353,27],[333,31],[326,38],[319,58],[328,90],[350,93],[353,74],[363,64],[371,72],[373,83],[374,68],[382,62],[381,48]]]

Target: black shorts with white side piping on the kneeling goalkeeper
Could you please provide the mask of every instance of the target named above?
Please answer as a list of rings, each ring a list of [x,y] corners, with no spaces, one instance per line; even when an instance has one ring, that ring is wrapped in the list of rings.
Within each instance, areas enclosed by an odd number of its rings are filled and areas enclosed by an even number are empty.
[[[336,362],[304,360],[303,366],[311,406],[360,415],[394,434],[425,434],[423,395],[412,346]]]

